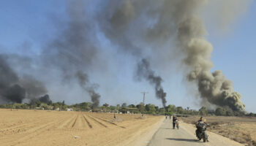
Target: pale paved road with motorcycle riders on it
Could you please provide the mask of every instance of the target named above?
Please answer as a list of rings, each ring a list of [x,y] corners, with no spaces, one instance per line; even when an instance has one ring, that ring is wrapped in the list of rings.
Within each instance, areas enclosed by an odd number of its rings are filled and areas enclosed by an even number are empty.
[[[172,120],[167,118],[162,123],[162,126],[158,129],[158,131],[154,134],[149,142],[149,146],[200,146],[200,145],[241,145],[238,142],[234,142],[233,140],[227,139],[226,137],[219,136],[218,134],[213,134],[208,132],[209,141],[203,142],[203,140],[198,141],[195,137],[195,128],[187,123],[180,122],[179,129],[173,129]]]

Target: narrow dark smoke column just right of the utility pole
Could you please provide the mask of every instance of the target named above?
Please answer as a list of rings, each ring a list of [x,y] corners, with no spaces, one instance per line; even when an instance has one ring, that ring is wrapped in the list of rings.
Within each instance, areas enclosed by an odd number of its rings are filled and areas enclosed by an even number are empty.
[[[154,71],[151,69],[149,62],[144,58],[141,60],[141,62],[137,66],[137,72],[136,72],[138,79],[146,79],[148,82],[150,82],[151,85],[154,85],[154,90],[157,96],[157,99],[162,100],[162,105],[165,107],[166,104],[166,93],[162,88],[162,78],[155,75]]]

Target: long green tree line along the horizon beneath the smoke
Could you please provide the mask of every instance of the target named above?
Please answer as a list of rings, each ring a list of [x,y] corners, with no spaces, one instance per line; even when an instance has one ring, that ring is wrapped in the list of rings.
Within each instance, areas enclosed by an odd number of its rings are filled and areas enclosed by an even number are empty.
[[[189,107],[176,107],[173,104],[164,107],[158,107],[154,104],[117,104],[116,106],[110,104],[102,104],[100,107],[93,107],[91,102],[82,102],[79,104],[67,105],[65,101],[54,102],[49,100],[46,102],[34,101],[29,104],[1,104],[0,108],[4,109],[38,109],[43,110],[67,110],[72,109],[75,111],[85,112],[121,112],[121,113],[135,113],[135,114],[148,114],[148,115],[218,115],[218,116],[254,116],[255,113],[244,113],[231,110],[229,107],[217,107],[216,110],[208,110],[206,107],[201,107],[199,110],[192,110]]]

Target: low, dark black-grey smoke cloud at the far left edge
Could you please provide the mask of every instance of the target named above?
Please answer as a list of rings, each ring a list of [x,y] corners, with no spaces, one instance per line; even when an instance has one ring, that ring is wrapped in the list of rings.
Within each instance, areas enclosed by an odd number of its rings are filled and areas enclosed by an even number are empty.
[[[25,75],[18,77],[9,66],[4,55],[0,55],[0,101],[21,103],[23,99],[33,99],[47,93],[42,82]]]

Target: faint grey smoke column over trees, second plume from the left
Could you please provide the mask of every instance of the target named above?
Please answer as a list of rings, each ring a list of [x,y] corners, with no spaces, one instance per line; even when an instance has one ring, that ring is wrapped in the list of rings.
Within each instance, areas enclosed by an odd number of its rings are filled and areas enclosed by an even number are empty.
[[[78,71],[76,74],[76,77],[78,77],[78,81],[80,83],[80,86],[89,93],[91,96],[91,101],[92,101],[92,106],[94,108],[99,107],[99,98],[100,95],[99,93],[96,93],[95,89],[98,88],[98,85],[96,84],[91,84],[89,82],[88,75]]]

